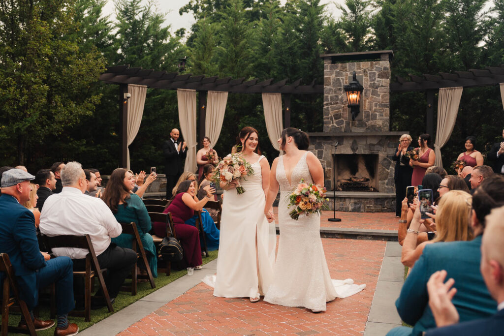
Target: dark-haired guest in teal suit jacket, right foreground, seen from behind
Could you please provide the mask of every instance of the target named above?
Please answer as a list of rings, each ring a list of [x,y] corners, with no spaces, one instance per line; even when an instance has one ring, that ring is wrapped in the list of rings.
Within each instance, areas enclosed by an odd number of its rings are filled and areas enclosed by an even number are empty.
[[[396,308],[401,319],[413,328],[400,326],[387,333],[393,335],[420,335],[434,328],[435,321],[428,307],[427,280],[437,271],[446,270],[455,279],[457,295],[453,304],[461,321],[488,317],[495,312],[496,303],[486,289],[479,272],[481,235],[485,216],[504,201],[504,178],[485,179],[473,194],[471,227],[475,238],[425,246],[415,267],[404,282]],[[468,206],[469,207],[469,206]]]

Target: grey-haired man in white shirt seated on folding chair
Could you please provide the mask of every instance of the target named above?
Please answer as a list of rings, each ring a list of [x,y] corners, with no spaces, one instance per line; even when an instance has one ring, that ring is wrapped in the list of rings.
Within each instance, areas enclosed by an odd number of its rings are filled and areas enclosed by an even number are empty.
[[[100,267],[108,269],[105,284],[113,299],[135,264],[137,253],[111,244],[111,239],[121,234],[121,226],[101,199],[84,194],[87,183],[80,163],[69,162],[61,171],[61,182],[62,191],[45,201],[40,232],[47,236],[89,234]],[[52,252],[70,256],[76,270],[82,271],[85,267],[87,252],[82,248],[54,248]],[[101,291],[96,296],[102,296]],[[102,300],[96,305],[105,305],[105,302]]]

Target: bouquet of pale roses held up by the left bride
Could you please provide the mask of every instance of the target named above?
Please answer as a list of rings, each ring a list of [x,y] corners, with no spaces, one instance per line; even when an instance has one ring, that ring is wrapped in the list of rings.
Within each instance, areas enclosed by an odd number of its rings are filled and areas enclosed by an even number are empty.
[[[250,166],[250,163],[246,162],[239,154],[230,154],[217,164],[213,180],[215,184],[222,182],[228,185],[233,179],[243,178],[246,180],[246,176],[253,174],[254,168]],[[245,189],[238,184],[236,192],[242,194],[245,192]]]

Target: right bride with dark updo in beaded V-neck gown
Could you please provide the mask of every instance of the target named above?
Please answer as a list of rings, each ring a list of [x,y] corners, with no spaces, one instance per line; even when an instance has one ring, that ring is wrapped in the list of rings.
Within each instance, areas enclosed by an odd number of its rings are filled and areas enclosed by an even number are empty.
[[[320,238],[320,215],[300,215],[293,220],[287,209],[287,196],[299,183],[324,185],[320,161],[308,149],[308,135],[286,128],[278,140],[285,155],[273,161],[265,215],[272,221],[273,201],[280,187],[278,222],[280,240],[273,271],[273,282],[264,300],[288,307],[305,307],[313,312],[326,310],[326,302],[360,292],[365,285],[331,280]]]

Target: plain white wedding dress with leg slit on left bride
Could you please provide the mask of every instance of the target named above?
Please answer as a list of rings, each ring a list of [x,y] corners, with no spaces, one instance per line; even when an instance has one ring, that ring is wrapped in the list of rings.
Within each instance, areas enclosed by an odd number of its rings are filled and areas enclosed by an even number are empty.
[[[246,181],[240,179],[244,193],[237,194],[235,188],[224,190],[217,275],[203,279],[214,287],[214,296],[259,297],[271,284],[276,237],[274,225],[270,225],[264,215],[266,197],[259,161],[265,159],[261,156],[251,164],[254,175],[248,176]]]

